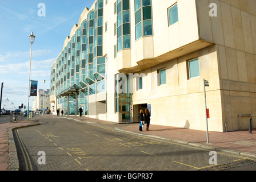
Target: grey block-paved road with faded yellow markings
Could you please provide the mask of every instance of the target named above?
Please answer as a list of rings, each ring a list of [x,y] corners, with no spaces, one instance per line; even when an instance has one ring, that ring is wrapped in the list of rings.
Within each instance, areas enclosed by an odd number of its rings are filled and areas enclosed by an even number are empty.
[[[103,125],[57,117],[39,121],[41,125],[14,130],[22,171],[198,171],[230,169],[235,164],[256,167],[254,160],[241,156],[223,152],[213,155],[203,148]]]

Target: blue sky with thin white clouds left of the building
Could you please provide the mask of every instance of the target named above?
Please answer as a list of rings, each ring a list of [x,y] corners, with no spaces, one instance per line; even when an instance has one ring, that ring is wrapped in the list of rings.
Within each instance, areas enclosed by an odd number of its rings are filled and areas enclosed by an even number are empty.
[[[27,105],[29,92],[29,35],[34,32],[31,77],[38,89],[50,89],[50,68],[63,48],[71,28],[78,23],[85,7],[95,0],[9,0],[0,1],[0,84],[3,82],[2,107]],[[45,5],[45,16],[39,3]],[[8,98],[9,102],[6,103]],[[33,98],[30,97],[30,109]],[[13,105],[11,105],[13,102]],[[6,108],[6,107],[5,107]]]

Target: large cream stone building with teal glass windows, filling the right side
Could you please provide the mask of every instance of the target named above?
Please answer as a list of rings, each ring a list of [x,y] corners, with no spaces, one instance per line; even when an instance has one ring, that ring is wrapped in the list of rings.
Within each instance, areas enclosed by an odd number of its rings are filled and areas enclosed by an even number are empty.
[[[98,0],[51,67],[65,115],[234,131],[256,126],[256,1]]]

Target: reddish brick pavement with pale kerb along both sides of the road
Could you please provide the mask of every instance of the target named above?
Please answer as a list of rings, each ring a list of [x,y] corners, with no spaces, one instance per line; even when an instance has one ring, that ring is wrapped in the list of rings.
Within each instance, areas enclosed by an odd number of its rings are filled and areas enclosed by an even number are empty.
[[[17,159],[17,151],[14,144],[12,130],[17,127],[38,125],[39,123],[37,122],[37,118],[39,117],[57,117],[57,115],[40,114],[31,121],[0,124],[0,171],[18,170],[18,164],[13,164],[13,161],[15,160],[11,160]],[[145,127],[143,127],[143,131],[139,131],[139,123],[116,123],[78,116],[58,117],[74,119],[79,122],[93,123],[104,127],[111,127],[118,131],[136,133],[146,137],[166,139],[172,142],[202,147],[217,152],[230,152],[231,154],[241,155],[245,158],[252,158],[256,160],[256,129],[253,129],[251,134],[248,130],[223,133],[209,131],[209,143],[207,143],[206,131],[154,124],[150,124],[149,131],[146,131]]]

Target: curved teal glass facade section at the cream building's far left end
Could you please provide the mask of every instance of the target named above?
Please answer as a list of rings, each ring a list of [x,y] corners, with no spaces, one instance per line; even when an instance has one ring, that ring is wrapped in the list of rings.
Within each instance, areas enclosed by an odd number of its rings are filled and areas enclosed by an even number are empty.
[[[103,0],[77,27],[51,68],[51,94],[65,115],[77,115],[79,107],[87,115],[88,96],[105,92]]]

